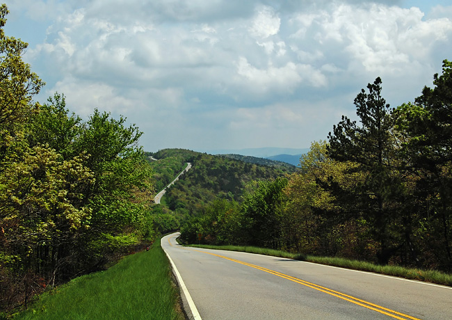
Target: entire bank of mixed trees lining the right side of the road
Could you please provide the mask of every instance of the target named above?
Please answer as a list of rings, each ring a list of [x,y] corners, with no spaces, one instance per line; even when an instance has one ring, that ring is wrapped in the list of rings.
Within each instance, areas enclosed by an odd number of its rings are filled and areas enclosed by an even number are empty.
[[[300,172],[217,198],[181,239],[451,272],[451,62],[433,84],[390,108],[377,78],[354,101],[359,121],[342,117]]]

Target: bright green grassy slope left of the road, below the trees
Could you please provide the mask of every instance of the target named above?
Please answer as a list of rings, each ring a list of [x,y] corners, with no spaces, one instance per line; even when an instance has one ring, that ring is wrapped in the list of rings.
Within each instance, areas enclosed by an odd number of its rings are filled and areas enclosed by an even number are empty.
[[[170,273],[168,258],[156,241],[149,251],[43,294],[14,319],[181,320]]]

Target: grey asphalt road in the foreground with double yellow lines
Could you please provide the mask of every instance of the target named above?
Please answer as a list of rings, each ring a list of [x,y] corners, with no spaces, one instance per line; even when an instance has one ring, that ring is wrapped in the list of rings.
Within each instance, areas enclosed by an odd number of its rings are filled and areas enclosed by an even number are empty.
[[[170,234],[161,243],[193,299],[192,319],[452,319],[451,287],[279,257],[185,248],[177,236]]]

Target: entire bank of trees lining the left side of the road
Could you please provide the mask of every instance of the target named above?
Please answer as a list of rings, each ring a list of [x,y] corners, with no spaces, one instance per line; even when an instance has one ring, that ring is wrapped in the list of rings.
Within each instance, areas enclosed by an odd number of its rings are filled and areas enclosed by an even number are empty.
[[[0,317],[178,227],[152,207],[152,168],[135,125],[94,107],[84,121],[59,93],[33,102],[45,83],[22,61],[27,44],[5,35],[7,15],[3,4]]]

